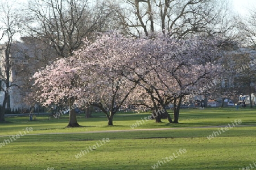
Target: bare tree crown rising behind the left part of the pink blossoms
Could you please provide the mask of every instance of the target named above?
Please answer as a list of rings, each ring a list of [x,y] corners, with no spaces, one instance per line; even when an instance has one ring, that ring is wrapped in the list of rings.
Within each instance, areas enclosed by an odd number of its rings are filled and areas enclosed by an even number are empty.
[[[33,0],[27,13],[31,35],[48,40],[59,57],[72,55],[108,17],[104,7],[82,0]]]

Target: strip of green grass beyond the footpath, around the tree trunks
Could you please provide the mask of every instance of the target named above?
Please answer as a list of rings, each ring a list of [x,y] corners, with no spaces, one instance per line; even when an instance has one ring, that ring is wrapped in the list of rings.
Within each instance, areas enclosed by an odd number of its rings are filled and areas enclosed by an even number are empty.
[[[167,120],[163,123],[155,124],[154,120],[145,121],[136,129],[155,129],[155,128],[188,128],[200,126],[227,125],[234,120],[241,120],[241,125],[255,124],[256,109],[239,109],[234,107],[225,109],[182,109],[180,114],[180,124],[168,124]],[[29,117],[9,117],[6,121],[10,123],[0,126],[0,135],[16,134],[27,127],[34,130],[31,133],[73,133],[81,131],[99,131],[99,130],[127,130],[137,121],[142,121],[149,113],[123,113],[120,112],[114,117],[114,126],[106,126],[107,119],[103,113],[93,114],[93,118],[84,118],[83,115],[77,116],[77,121],[81,128],[65,128],[68,125],[68,116],[65,115],[59,119],[47,116],[37,117],[37,121],[30,121]]]

